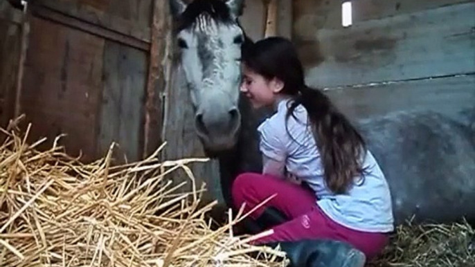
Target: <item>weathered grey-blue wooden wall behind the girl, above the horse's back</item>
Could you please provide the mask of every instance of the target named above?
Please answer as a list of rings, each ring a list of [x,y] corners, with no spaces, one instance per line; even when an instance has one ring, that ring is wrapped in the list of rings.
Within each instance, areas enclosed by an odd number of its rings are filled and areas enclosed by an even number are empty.
[[[307,81],[348,116],[475,107],[475,1],[294,1],[293,37]]]

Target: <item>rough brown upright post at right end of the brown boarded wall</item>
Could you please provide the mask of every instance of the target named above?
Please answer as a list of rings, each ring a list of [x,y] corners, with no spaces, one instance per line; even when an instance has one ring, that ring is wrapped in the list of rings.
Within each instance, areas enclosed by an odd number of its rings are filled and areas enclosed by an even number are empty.
[[[165,67],[161,62],[165,57],[165,36],[168,30],[167,1],[154,0],[151,31],[150,59],[147,80],[147,99],[145,102],[145,125],[143,136],[143,157],[156,150],[163,137],[163,91],[165,88]]]

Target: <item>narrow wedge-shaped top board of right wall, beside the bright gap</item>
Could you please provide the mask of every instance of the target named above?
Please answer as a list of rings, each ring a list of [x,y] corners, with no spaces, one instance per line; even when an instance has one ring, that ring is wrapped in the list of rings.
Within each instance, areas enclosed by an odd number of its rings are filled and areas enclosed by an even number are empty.
[[[381,19],[467,2],[473,0],[357,0],[352,1],[352,19],[354,24],[358,24],[369,19]]]

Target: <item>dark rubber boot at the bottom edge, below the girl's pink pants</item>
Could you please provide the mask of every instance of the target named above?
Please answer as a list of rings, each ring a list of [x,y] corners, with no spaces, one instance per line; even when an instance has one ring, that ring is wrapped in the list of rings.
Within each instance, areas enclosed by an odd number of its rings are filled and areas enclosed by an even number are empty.
[[[287,254],[287,267],[364,267],[363,252],[350,244],[328,239],[283,241],[263,244],[271,248],[280,245]]]

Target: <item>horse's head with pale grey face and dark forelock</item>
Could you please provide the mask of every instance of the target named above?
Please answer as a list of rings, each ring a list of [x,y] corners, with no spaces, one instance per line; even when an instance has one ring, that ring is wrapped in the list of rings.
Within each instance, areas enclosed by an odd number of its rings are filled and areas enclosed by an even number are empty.
[[[238,21],[244,0],[169,1],[195,131],[211,156],[234,147],[240,132],[241,48],[251,42]]]

